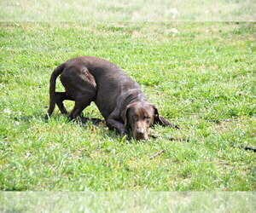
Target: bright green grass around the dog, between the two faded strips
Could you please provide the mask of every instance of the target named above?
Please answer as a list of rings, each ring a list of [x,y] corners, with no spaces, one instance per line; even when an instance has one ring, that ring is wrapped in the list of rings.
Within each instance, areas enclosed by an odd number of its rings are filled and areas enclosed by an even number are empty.
[[[236,148],[256,145],[254,23],[0,25],[1,190],[255,190],[255,154]],[[181,130],[156,126],[158,139],[125,141],[57,110],[45,122],[51,72],[79,55],[122,67]],[[101,118],[95,105],[84,115]]]

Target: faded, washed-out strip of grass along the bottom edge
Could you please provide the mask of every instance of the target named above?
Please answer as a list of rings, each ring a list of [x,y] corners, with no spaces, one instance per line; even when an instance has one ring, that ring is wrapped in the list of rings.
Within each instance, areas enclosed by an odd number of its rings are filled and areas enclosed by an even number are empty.
[[[3,212],[253,212],[254,199],[253,192],[0,193]]]

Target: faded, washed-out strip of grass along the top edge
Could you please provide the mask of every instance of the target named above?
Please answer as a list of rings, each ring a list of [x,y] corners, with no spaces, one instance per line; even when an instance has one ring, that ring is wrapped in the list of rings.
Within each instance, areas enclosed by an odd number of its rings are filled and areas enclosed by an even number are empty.
[[[253,21],[251,0],[2,0],[2,21]]]

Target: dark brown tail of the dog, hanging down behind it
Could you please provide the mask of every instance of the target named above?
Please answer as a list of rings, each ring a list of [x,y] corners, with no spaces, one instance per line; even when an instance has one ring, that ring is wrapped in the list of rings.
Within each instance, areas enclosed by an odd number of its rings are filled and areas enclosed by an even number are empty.
[[[55,93],[55,87],[56,87],[56,78],[61,75],[61,72],[63,71],[65,66],[65,63],[61,64],[60,66],[57,66],[52,72],[50,79],[49,79],[49,110],[47,112],[47,115],[45,116],[45,119],[49,118],[49,116],[52,114],[52,112],[55,109],[55,103],[56,103],[56,93]]]

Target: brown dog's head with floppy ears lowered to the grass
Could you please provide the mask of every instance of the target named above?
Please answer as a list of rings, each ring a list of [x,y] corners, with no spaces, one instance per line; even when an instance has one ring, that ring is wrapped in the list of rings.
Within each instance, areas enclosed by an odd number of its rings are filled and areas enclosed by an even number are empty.
[[[136,140],[148,140],[149,127],[158,117],[157,109],[148,101],[134,101],[122,112],[125,126],[131,128],[132,137]]]

